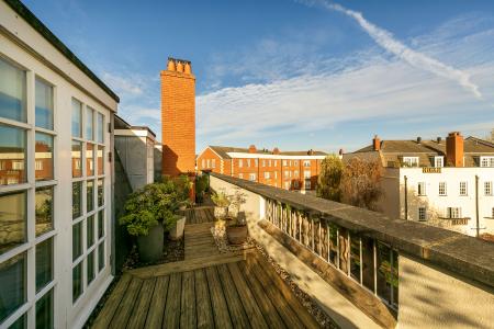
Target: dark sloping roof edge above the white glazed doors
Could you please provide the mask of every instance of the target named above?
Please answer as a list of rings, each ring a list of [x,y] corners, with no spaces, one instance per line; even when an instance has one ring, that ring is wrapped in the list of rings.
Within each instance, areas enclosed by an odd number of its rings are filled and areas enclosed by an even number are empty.
[[[58,37],[46,27],[29,9],[19,0],[3,0],[12,8],[27,24],[36,30],[48,43],[57,48],[64,56],[88,76],[96,84],[103,89],[115,102],[120,103],[120,98],[97,77]]]

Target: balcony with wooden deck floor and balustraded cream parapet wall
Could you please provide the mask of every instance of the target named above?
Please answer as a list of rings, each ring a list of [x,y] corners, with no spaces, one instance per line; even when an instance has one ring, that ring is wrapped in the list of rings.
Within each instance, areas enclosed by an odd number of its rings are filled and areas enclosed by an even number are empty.
[[[242,191],[250,237],[329,327],[494,322],[493,243],[217,173],[210,184]],[[93,327],[318,327],[257,249],[217,250],[212,214],[189,214],[183,261],[125,272]]]

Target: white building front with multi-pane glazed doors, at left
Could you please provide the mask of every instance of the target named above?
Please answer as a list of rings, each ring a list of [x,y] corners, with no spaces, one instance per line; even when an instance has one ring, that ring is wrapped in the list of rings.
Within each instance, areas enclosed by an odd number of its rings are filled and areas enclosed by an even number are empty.
[[[117,102],[20,1],[0,1],[0,328],[79,328],[111,283]]]

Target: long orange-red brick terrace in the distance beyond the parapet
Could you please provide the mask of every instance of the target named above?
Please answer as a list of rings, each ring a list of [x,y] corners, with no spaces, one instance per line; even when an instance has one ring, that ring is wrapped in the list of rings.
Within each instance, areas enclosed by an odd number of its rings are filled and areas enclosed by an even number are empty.
[[[249,148],[209,146],[198,156],[198,169],[228,174],[252,182],[292,191],[313,191],[317,184],[322,151],[270,151]]]

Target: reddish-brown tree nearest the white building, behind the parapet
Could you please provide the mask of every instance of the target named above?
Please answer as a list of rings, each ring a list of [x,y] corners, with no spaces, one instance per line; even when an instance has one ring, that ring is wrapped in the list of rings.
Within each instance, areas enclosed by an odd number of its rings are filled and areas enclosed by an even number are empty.
[[[380,185],[381,163],[375,161],[350,159],[341,178],[341,202],[371,211],[379,211],[378,201],[382,195]]]

